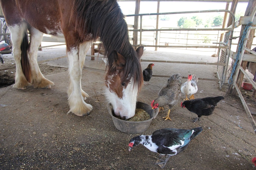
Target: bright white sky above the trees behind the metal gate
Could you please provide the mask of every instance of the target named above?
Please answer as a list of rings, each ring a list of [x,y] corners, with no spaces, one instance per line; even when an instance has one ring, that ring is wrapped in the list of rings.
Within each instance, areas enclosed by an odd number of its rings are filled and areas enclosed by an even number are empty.
[[[124,15],[135,13],[135,1],[119,1],[118,2]],[[244,16],[246,7],[248,3],[238,3],[236,8],[236,13],[239,16]],[[229,10],[232,3],[229,4]],[[173,1],[162,1],[160,2],[159,13],[164,12],[183,12],[183,11],[203,11],[203,10],[220,10],[225,9],[226,3],[213,3],[213,2],[173,2]],[[157,13],[157,1],[140,1],[140,14]],[[207,12],[207,13],[190,13],[190,14],[172,14],[168,15],[170,17],[170,22],[165,27],[177,27],[177,22],[181,17],[191,18],[193,16],[198,16],[203,20],[204,23],[207,20],[213,20],[214,17],[221,15],[224,16],[225,12]],[[228,17],[228,16],[227,16]],[[152,21],[146,21],[147,17],[143,17],[143,26],[155,26]],[[133,24],[134,19],[132,17],[126,18],[128,24]],[[166,23],[165,23],[166,24]]]

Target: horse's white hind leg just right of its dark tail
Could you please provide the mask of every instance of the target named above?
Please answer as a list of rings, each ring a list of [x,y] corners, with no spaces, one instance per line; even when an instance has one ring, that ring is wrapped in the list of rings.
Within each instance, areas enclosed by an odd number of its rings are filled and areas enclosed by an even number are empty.
[[[37,51],[42,42],[43,33],[34,27],[30,27],[29,32],[30,43],[28,57],[31,67],[31,84],[34,88],[51,88],[51,85],[54,85],[54,83],[43,76],[37,64]]]

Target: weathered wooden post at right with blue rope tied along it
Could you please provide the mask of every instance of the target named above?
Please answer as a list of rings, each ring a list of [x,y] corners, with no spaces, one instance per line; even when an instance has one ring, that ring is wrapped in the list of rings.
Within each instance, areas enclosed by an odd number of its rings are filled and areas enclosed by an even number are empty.
[[[255,0],[249,0],[244,16],[251,16],[252,11],[253,11],[255,6],[256,6],[256,1]],[[243,35],[245,26],[246,25],[241,26],[241,31],[240,31],[240,36],[239,36],[239,41],[238,42],[241,41],[241,36]],[[249,38],[248,38],[247,44],[246,44],[247,48],[252,47],[252,41],[253,41],[254,34],[255,34],[255,30],[254,29],[250,30]],[[239,47],[237,46],[236,52],[238,52],[238,48]],[[247,61],[242,61],[241,67],[243,67],[244,70],[246,69],[246,65],[247,65]],[[236,68],[236,69],[238,69],[238,68]],[[235,75],[233,75],[233,76],[235,76]],[[237,81],[236,81],[236,84],[239,88],[242,85],[243,79],[244,79],[244,74],[241,72],[241,70],[239,70]],[[232,88],[232,87],[233,87],[233,85],[229,85],[227,94],[238,95],[238,93],[236,91],[236,88]]]

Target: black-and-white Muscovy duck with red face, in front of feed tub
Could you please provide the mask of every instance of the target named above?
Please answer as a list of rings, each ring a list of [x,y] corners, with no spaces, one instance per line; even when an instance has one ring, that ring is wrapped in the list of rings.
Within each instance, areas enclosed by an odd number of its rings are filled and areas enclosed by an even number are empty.
[[[168,155],[165,160],[158,159],[156,165],[161,168],[165,167],[171,156],[177,155],[189,145],[189,142],[195,138],[202,127],[193,129],[159,129],[153,132],[152,135],[140,135],[133,137],[129,142],[129,151],[135,146],[142,144],[152,152],[160,155]]]

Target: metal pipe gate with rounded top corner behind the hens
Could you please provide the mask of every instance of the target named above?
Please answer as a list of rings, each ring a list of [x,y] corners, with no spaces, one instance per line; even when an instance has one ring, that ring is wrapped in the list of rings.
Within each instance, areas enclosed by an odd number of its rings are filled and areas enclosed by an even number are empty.
[[[235,16],[234,14],[229,10],[205,10],[205,11],[185,11],[185,12],[166,12],[166,13],[152,13],[152,14],[133,14],[133,15],[126,15],[126,17],[140,17],[140,25],[143,25],[143,16],[149,16],[149,15],[171,15],[171,14],[190,14],[190,13],[207,13],[207,12],[228,12],[230,16],[232,16],[232,25],[227,28],[162,28],[162,29],[143,29],[143,27],[140,27],[140,29],[130,29],[129,31],[137,31],[140,33],[139,35],[139,45],[133,45],[133,46],[141,46],[143,36],[142,33],[146,31],[154,31],[155,32],[155,39],[158,38],[158,32],[177,32],[177,31],[219,31],[219,32],[229,32],[230,39],[228,44],[225,43],[214,43],[215,45],[169,45],[169,44],[155,44],[155,45],[147,45],[143,44],[145,47],[169,47],[169,48],[209,48],[209,49],[219,49],[220,55],[218,56],[218,63],[205,63],[205,62],[182,62],[182,61],[159,61],[154,60],[154,62],[169,62],[169,63],[186,63],[186,64],[205,64],[205,65],[216,65],[217,66],[217,72],[218,72],[218,79],[207,79],[207,78],[201,78],[200,80],[211,80],[211,81],[218,81],[220,88],[222,88],[222,85],[225,83],[226,79],[226,73],[227,73],[227,67],[228,67],[228,61],[229,61],[229,55],[230,55],[230,46],[232,43],[232,36],[233,36],[233,30],[234,30],[234,24],[235,24]],[[217,45],[219,44],[219,46]],[[152,61],[152,60],[141,60],[141,61]],[[159,75],[160,77],[169,77],[165,75]]]

